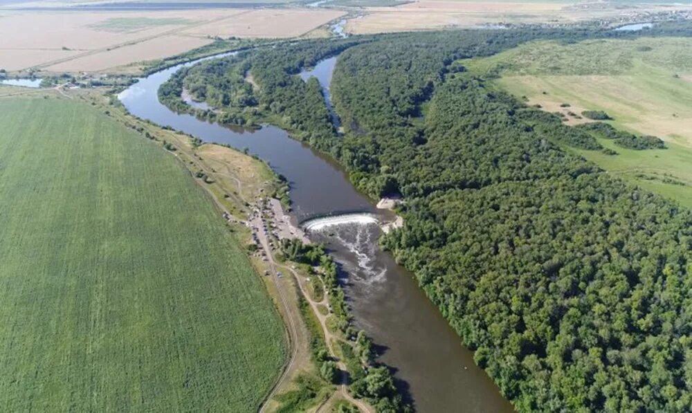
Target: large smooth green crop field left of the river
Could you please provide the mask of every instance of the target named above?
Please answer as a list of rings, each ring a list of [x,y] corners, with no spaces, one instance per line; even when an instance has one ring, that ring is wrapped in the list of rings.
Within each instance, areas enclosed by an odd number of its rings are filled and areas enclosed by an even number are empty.
[[[4,412],[254,412],[286,357],[172,154],[77,100],[0,99]]]

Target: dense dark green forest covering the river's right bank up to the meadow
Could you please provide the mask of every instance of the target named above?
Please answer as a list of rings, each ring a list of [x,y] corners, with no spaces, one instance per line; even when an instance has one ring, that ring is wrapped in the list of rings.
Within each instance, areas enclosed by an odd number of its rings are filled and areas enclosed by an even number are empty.
[[[247,67],[265,119],[334,156],[367,194],[403,196],[405,224],[383,246],[517,410],[683,412],[692,408],[692,214],[561,147],[601,149],[595,136],[660,144],[564,125],[457,62],[532,39],[670,34],[692,28],[311,40],[253,53]],[[295,76],[336,53],[343,138],[318,85]]]

